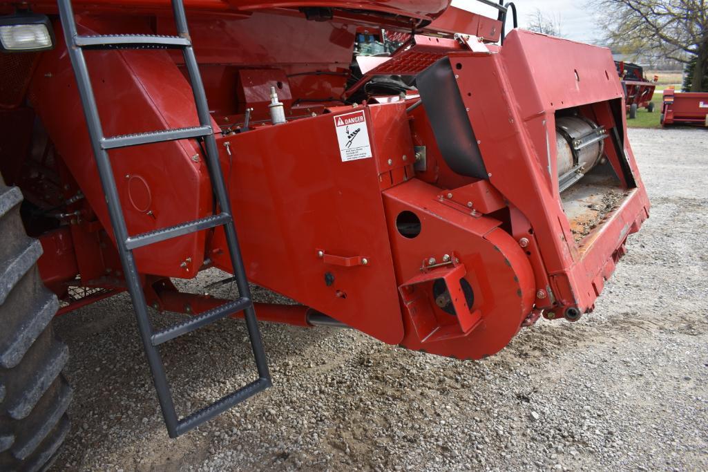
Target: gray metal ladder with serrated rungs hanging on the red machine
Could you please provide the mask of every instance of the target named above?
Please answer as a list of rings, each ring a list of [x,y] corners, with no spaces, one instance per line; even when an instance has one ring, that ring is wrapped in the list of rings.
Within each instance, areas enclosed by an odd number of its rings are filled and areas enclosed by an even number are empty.
[[[59,15],[62,20],[67,50],[72,61],[72,66],[74,67],[76,85],[79,89],[81,103],[86,116],[86,125],[89,128],[89,136],[91,137],[93,154],[96,158],[98,174],[101,177],[101,186],[103,186],[106,203],[108,203],[110,223],[113,225],[113,232],[118,245],[118,253],[120,254],[120,261],[123,266],[125,281],[127,282],[133,307],[135,308],[137,325],[145,354],[147,354],[147,361],[152,371],[157,398],[159,399],[162,415],[170,437],[178,437],[180,434],[198,427],[203,422],[210,420],[212,417],[236,405],[236,403],[246,400],[246,398],[251,397],[271,385],[270,373],[268,373],[268,362],[263,350],[263,343],[261,342],[261,333],[258,330],[258,324],[256,322],[256,312],[253,308],[253,302],[251,301],[251,291],[246,279],[246,271],[244,270],[244,264],[241,260],[239,242],[236,238],[236,228],[234,227],[234,220],[232,218],[231,204],[224,184],[222,168],[219,164],[217,142],[211,125],[209,109],[207,108],[207,98],[204,92],[202,78],[199,73],[187,29],[187,18],[185,16],[184,6],[181,0],[172,0],[172,9],[178,33],[177,36],[82,36],[76,32],[76,21],[74,20],[71,0],[58,0],[57,3],[59,4]],[[101,128],[101,119],[98,116],[96,99],[93,96],[93,89],[91,88],[91,80],[89,79],[89,71],[86,68],[83,50],[143,48],[182,50],[194,94],[199,125],[192,128],[176,128],[134,135],[105,137],[103,135],[103,128]],[[205,158],[207,167],[209,168],[212,190],[214,191],[220,212],[215,215],[207,216],[206,218],[188,221],[172,227],[164,227],[139,235],[128,235],[125,218],[123,218],[122,208],[118,198],[118,189],[113,179],[113,170],[111,169],[108,150],[188,138],[201,138],[205,143]],[[142,291],[142,284],[140,283],[137,266],[135,264],[133,249],[217,226],[223,226],[226,232],[236,285],[239,288],[239,298],[212,310],[208,310],[186,322],[174,325],[163,331],[154,332],[147,315],[147,303],[145,302],[145,296]],[[244,310],[246,327],[249,332],[249,337],[251,338],[253,356],[256,359],[256,368],[258,369],[258,379],[224,396],[215,403],[207,405],[205,408],[179,419],[174,408],[169,383],[165,376],[164,365],[162,364],[157,346],[241,310]]]

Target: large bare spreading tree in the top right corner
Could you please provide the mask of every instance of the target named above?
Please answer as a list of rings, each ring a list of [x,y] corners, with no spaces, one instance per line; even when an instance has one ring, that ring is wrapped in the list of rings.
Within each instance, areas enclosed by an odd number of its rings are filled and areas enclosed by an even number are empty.
[[[646,57],[687,64],[695,57],[691,91],[708,75],[708,0],[595,0],[607,43]]]

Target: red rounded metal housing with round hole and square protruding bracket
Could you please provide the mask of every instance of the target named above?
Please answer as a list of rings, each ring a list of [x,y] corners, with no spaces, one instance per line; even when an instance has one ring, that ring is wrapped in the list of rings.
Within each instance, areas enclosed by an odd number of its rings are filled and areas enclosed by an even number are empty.
[[[481,359],[498,352],[520,330],[532,309],[533,271],[518,243],[498,227],[498,220],[474,218],[450,208],[439,201],[439,191],[413,179],[384,192],[396,276],[404,293],[406,337],[401,344],[457,359]],[[396,227],[404,211],[421,221],[416,237],[406,237]],[[450,265],[444,264],[445,254],[451,258]],[[421,264],[430,258],[440,267],[426,271]],[[464,266],[462,276],[474,292],[474,303],[459,317],[430,304],[432,293],[425,285],[449,277],[447,271],[456,265]]]

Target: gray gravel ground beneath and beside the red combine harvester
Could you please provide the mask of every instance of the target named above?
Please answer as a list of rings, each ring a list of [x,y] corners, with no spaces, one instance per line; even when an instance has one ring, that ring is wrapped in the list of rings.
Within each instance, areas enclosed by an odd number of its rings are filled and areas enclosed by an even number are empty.
[[[630,138],[651,218],[581,322],[541,320],[484,361],[262,325],[275,386],[168,439],[117,296],[57,320],[76,393],[55,470],[707,470],[708,132]],[[227,321],[164,347],[182,411],[251,380],[245,336]]]

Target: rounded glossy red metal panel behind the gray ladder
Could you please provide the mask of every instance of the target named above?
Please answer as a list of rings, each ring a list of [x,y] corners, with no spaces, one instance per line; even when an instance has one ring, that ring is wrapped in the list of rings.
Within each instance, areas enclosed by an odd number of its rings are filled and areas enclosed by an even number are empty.
[[[98,28],[98,22],[96,18],[91,25]],[[102,27],[120,30],[121,25],[109,23]],[[61,38],[58,24],[55,31]],[[86,62],[105,135],[198,123],[189,84],[166,52],[89,51]],[[42,54],[30,86],[30,101],[98,220],[113,237],[74,72],[63,43]],[[212,212],[207,169],[201,159],[192,159],[198,154],[196,143],[189,140],[110,152],[130,234],[176,225]],[[185,235],[137,249],[137,265],[151,274],[190,278],[202,265],[204,247],[205,232]],[[185,264],[182,266],[181,262]]]

